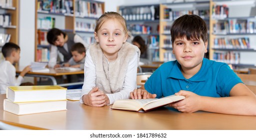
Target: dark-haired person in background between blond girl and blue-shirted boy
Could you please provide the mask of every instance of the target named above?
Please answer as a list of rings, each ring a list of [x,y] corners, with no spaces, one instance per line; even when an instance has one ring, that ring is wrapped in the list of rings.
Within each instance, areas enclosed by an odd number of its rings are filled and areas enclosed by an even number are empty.
[[[150,52],[145,44],[145,40],[141,36],[135,36],[132,39],[132,44],[136,45],[140,50],[139,61],[141,64],[148,64],[150,63]]]

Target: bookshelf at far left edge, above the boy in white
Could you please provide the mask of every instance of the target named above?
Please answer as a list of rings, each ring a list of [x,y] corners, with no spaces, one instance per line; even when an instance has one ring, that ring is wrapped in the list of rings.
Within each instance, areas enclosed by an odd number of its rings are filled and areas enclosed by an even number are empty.
[[[0,1],[0,61],[3,60],[1,47],[5,42],[18,44],[19,0]],[[5,20],[4,20],[5,19]]]

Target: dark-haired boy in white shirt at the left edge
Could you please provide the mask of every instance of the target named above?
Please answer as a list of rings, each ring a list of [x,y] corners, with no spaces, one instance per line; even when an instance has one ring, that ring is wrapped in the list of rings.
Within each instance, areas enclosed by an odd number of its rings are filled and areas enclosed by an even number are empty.
[[[0,63],[0,93],[6,93],[6,86],[20,85],[23,81],[25,73],[31,70],[30,66],[26,66],[16,78],[16,69],[12,65],[19,61],[20,47],[15,43],[5,43],[2,46],[2,54],[5,58],[4,61]]]

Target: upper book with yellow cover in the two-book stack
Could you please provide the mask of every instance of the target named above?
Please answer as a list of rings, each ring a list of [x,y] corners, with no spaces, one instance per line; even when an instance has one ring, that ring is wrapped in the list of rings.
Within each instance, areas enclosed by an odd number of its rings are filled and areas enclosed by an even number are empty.
[[[66,88],[58,85],[7,86],[6,98],[12,102],[64,100]]]

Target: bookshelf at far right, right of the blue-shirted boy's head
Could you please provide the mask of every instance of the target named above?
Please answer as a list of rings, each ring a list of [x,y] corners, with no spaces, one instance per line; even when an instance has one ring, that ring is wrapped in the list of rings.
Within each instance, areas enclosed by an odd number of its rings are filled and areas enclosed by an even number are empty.
[[[256,66],[255,2],[210,0],[210,59],[234,68]]]

